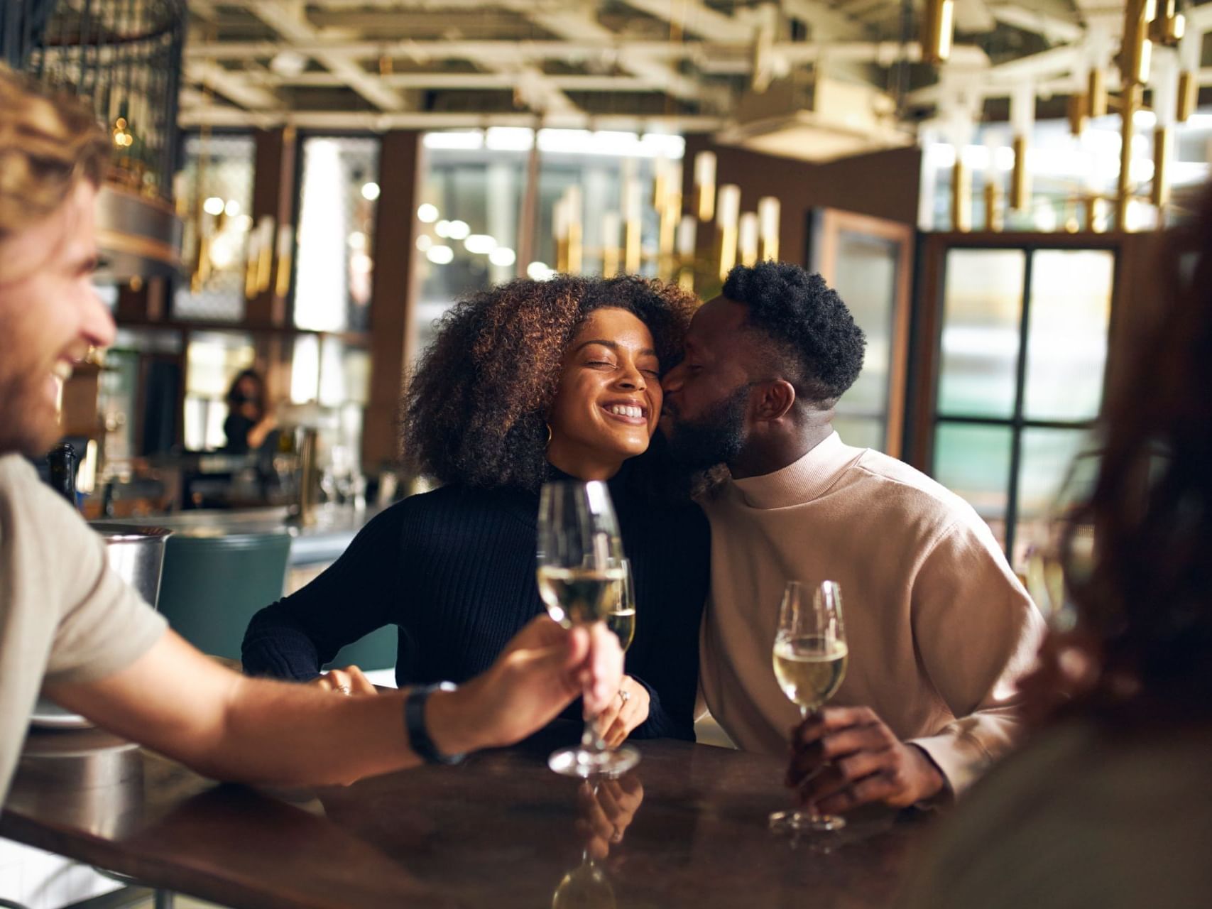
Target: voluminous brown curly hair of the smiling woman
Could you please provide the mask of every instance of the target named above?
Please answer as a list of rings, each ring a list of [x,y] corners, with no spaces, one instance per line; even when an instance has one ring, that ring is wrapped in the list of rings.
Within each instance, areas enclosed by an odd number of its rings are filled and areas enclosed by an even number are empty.
[[[405,394],[405,465],[444,484],[537,490],[564,351],[585,316],[607,307],[648,327],[662,370],[681,360],[696,299],[659,281],[516,279],[457,303]]]

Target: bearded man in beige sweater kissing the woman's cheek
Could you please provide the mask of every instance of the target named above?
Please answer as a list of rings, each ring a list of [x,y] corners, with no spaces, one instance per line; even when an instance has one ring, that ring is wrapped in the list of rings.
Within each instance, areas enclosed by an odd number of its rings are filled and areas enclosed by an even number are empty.
[[[745,749],[785,754],[791,731],[788,784],[825,813],[968,785],[1011,744],[1013,680],[1042,629],[966,502],[834,431],[864,344],[821,275],[737,267],[696,313],[686,356],[664,379],[671,454],[731,473],[703,499],[707,708]],[[831,705],[804,722],[771,671],[789,579],[840,583],[850,642]]]

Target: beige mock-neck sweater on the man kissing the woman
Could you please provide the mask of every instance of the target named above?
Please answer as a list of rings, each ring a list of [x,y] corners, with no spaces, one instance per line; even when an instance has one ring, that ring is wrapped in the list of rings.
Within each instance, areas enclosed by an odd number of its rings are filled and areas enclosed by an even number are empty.
[[[964,499],[834,433],[782,470],[728,481],[703,507],[703,696],[741,748],[785,754],[799,721],[771,667],[793,578],[841,584],[850,665],[831,704],[870,707],[956,793],[1012,743],[1013,682],[1034,663],[1044,622]]]

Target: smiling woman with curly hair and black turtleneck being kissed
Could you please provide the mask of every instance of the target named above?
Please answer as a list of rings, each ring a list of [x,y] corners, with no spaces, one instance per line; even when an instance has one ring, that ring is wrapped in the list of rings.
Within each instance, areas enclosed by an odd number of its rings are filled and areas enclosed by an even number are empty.
[[[311,680],[342,646],[394,624],[400,685],[473,678],[544,611],[534,579],[542,484],[605,480],[639,604],[605,739],[693,739],[710,537],[654,438],[661,376],[681,358],[693,309],[692,297],[657,281],[570,275],[519,279],[456,304],[408,384],[404,416],[407,464],[442,486],[387,509],[311,584],[258,612],[246,671]],[[343,671],[343,684],[362,684]]]

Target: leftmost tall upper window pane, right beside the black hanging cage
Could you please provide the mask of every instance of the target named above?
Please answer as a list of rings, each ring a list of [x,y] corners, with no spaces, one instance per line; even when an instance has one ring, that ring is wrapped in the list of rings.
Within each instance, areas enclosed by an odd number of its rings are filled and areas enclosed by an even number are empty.
[[[244,319],[245,270],[252,223],[251,136],[190,136],[177,193],[188,215],[182,235],[185,276],[177,286],[177,319]]]

